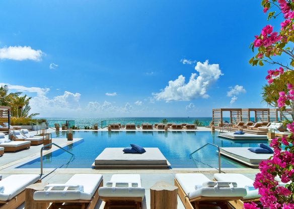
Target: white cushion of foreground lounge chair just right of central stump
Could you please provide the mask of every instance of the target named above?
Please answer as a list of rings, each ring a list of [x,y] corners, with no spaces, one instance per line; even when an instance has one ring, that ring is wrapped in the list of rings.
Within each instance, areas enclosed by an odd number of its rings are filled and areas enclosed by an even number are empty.
[[[246,189],[239,187],[236,187],[234,189],[231,189],[230,187],[218,187],[217,189],[215,189],[214,187],[201,187],[195,190],[195,185],[201,185],[203,182],[210,181],[204,174],[180,173],[176,174],[175,177],[189,199],[200,196],[241,197],[246,195]]]

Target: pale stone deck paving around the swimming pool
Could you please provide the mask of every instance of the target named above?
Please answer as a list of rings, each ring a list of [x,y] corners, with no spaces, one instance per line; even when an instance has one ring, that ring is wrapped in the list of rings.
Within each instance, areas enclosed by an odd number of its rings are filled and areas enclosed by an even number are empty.
[[[48,132],[54,132],[54,130],[48,130]],[[93,130],[78,130],[78,131],[93,131]],[[97,131],[97,130],[96,130]],[[106,128],[99,129],[98,131],[107,131]],[[134,130],[113,130],[113,131],[134,131]],[[157,131],[154,130],[142,130],[137,129],[136,131]],[[164,130],[158,130],[164,131]],[[209,128],[198,127],[196,130],[170,130],[169,131],[210,131]],[[32,131],[31,133],[36,134],[36,131]],[[74,138],[73,141],[67,141],[66,138],[53,138],[52,142],[63,147],[73,142],[77,142],[82,138]],[[36,168],[16,168],[19,165],[24,164],[25,162],[29,162],[34,158],[40,157],[40,150],[42,145],[39,146],[31,146],[30,149],[19,151],[16,153],[5,153],[4,156],[0,157],[0,174],[3,175],[3,178],[12,175],[12,174],[40,174],[40,169]],[[57,148],[52,147],[49,151],[53,152]],[[252,168],[222,168],[222,171],[225,173],[242,173],[248,176],[251,179],[255,178],[255,174],[258,172],[258,169]],[[170,184],[174,184],[174,177],[176,173],[203,173],[209,179],[213,178],[214,173],[218,173],[216,169],[199,169],[199,168],[176,168],[176,169],[135,169],[135,170],[121,170],[121,169],[91,169],[91,168],[56,168],[56,169],[44,169],[44,174],[41,179],[42,182],[48,183],[65,183],[73,174],[76,173],[99,173],[103,174],[104,183],[110,180],[113,174],[127,174],[127,173],[136,173],[141,175],[142,186],[145,188],[145,198],[143,200],[142,208],[149,209],[150,208],[150,187],[154,185],[157,181],[166,181]],[[104,207],[104,202],[99,200],[96,209],[101,209]],[[24,204],[21,205],[18,209],[24,208]],[[184,208],[179,196],[178,196],[178,208]],[[211,207],[210,207],[211,208]],[[216,207],[217,208],[217,207]]]

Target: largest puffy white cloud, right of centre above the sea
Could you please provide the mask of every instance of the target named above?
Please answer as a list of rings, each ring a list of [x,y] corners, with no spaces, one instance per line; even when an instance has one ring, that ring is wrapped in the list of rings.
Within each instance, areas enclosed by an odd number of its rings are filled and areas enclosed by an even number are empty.
[[[189,82],[185,83],[185,77],[180,75],[175,81],[169,81],[169,85],[159,93],[153,93],[156,100],[189,101],[197,97],[208,98],[207,90],[222,76],[218,64],[197,62],[195,70],[199,73],[192,73]]]

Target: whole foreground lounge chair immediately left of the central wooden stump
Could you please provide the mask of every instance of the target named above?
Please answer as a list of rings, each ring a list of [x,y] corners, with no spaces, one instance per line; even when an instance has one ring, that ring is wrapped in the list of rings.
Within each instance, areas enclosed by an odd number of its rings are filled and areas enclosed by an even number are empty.
[[[145,189],[141,185],[139,174],[114,174],[105,186],[99,188],[99,196],[106,202],[106,209],[112,205],[141,208]],[[134,204],[126,205],[122,202]]]

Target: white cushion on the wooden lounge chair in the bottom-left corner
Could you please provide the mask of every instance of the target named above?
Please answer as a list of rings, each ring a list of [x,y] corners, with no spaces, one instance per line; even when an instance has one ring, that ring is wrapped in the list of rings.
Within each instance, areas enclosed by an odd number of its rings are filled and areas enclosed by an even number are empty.
[[[25,188],[40,179],[38,174],[18,174],[11,175],[0,181],[0,186],[4,186],[4,192],[0,193],[1,201],[8,201]]]

